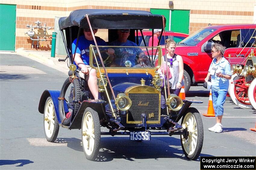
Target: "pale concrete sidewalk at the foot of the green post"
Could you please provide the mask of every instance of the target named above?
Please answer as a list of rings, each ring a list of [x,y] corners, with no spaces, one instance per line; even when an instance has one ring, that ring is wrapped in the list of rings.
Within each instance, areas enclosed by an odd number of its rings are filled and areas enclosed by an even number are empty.
[[[64,74],[67,74],[69,71],[69,68],[67,67],[67,62],[69,62],[68,59],[65,62],[58,61],[59,58],[66,58],[65,55],[55,55],[54,58],[51,57],[51,51],[24,50],[22,48],[16,49],[15,54],[38,61],[39,63],[45,64],[48,67],[52,67]]]

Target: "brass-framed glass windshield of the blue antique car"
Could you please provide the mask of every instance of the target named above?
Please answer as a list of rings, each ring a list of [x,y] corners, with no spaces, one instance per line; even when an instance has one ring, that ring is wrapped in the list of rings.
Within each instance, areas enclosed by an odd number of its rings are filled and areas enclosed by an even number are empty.
[[[132,47],[132,46],[98,46],[105,67],[157,67],[155,60],[161,54],[161,47]],[[114,53],[110,54],[110,51]],[[160,51],[160,52],[159,52]],[[95,59],[96,58],[96,59]],[[153,62],[152,62],[153,61]],[[96,46],[90,46],[90,64],[102,67]]]

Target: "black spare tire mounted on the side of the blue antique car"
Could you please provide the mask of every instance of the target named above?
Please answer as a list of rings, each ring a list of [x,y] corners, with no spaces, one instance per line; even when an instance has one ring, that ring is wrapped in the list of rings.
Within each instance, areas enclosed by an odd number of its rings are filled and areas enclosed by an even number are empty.
[[[73,87],[74,87],[73,100],[80,101],[81,100],[80,83],[79,83],[78,79],[73,79],[73,82],[70,82],[70,77],[68,77],[66,79],[66,81],[63,83],[63,86],[61,88],[60,98],[65,97],[67,89],[71,83],[73,83]],[[71,119],[74,117],[74,115],[76,115],[81,104],[80,103],[70,103],[70,105],[73,106],[73,113],[68,119],[66,119],[66,113],[65,113],[65,109],[64,109],[64,100],[59,100],[59,114],[60,114],[61,122],[62,122],[62,124],[66,125],[66,126],[68,126],[70,124]]]

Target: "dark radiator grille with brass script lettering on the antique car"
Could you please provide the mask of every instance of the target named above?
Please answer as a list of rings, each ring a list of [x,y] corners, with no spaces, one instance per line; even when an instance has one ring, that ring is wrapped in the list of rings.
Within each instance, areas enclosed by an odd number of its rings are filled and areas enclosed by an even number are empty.
[[[141,115],[147,117],[147,123],[160,123],[159,94],[129,94],[132,106],[127,114],[127,123],[138,124],[142,121]],[[152,117],[153,116],[153,117]]]

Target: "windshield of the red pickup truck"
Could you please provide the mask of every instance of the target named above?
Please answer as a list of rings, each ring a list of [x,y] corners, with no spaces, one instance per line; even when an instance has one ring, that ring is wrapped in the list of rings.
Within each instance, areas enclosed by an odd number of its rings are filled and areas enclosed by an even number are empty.
[[[190,36],[186,37],[179,44],[186,45],[186,46],[196,46],[198,43],[201,42],[201,40],[203,40],[205,37],[207,37],[214,31],[216,31],[216,29],[202,28],[202,29],[196,31],[195,33],[191,34]]]

